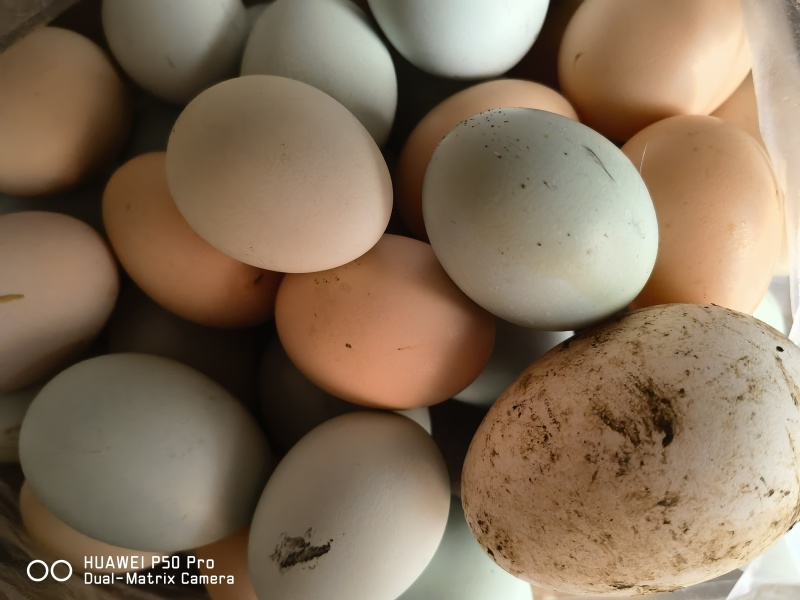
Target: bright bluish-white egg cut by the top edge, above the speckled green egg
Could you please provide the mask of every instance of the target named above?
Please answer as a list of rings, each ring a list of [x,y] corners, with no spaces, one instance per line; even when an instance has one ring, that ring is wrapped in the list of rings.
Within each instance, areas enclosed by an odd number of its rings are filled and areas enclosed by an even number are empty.
[[[441,77],[505,73],[533,46],[548,0],[368,0],[386,37],[414,66]]]

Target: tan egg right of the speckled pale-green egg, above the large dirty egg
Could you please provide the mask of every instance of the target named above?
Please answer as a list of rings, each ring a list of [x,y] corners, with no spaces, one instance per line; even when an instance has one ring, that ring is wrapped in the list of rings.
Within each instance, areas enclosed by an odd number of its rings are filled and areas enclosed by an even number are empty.
[[[781,195],[761,146],[715,117],[680,116],[622,151],[650,191],[659,231],[655,267],[631,307],[711,303],[752,314],[783,240]]]

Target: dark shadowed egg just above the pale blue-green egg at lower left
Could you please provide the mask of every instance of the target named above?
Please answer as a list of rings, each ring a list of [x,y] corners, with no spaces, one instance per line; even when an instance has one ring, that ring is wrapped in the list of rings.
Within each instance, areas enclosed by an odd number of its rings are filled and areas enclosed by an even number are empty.
[[[108,352],[164,356],[183,363],[253,406],[259,344],[252,329],[217,329],[185,321],[131,287],[108,323]],[[272,440],[270,440],[272,441]]]

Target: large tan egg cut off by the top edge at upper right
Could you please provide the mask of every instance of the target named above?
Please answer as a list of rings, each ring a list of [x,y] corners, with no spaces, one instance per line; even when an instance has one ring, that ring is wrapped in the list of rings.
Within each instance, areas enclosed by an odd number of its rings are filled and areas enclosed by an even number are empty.
[[[750,62],[738,0],[586,0],[558,73],[581,122],[624,141],[673,115],[710,114]]]

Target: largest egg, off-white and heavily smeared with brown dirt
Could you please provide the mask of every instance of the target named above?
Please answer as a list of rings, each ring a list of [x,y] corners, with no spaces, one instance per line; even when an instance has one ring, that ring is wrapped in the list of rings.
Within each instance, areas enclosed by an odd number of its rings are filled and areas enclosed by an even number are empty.
[[[722,307],[645,308],[583,331],[492,406],[467,521],[535,585],[630,596],[745,564],[800,519],[800,349]]]

